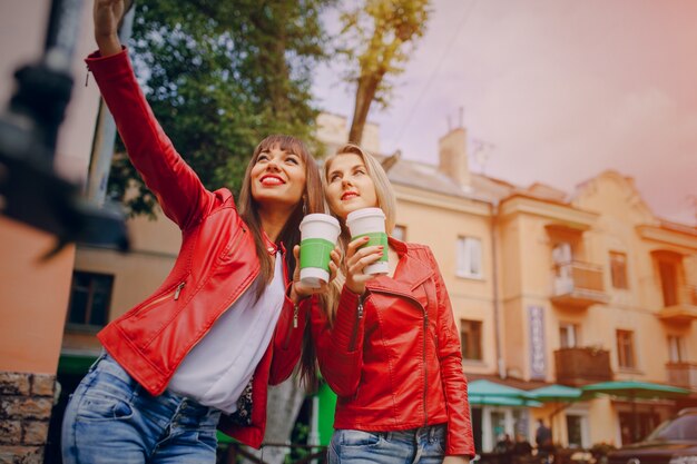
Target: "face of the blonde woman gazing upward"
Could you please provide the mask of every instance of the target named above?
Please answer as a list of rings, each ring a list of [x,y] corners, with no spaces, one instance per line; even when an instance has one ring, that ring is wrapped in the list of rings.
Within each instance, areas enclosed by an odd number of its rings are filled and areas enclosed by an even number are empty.
[[[337,155],[326,170],[326,201],[342,219],[356,209],[377,206],[375,184],[359,155]]]

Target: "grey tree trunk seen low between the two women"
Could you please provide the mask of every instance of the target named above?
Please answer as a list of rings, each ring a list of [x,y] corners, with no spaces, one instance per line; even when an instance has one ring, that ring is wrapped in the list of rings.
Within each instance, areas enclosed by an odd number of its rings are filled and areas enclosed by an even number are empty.
[[[291,443],[291,432],[293,432],[295,418],[304,399],[305,388],[298,385],[295,376],[278,386],[268,388],[264,443]],[[249,448],[252,454],[263,457],[263,461],[268,464],[282,464],[288,451],[281,446],[264,446],[259,451]],[[248,460],[243,463],[251,464]]]

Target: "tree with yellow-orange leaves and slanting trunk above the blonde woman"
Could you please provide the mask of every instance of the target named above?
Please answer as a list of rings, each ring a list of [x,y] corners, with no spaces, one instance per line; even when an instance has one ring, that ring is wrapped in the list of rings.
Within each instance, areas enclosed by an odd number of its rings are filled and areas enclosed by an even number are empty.
[[[373,101],[387,107],[389,77],[404,71],[402,65],[424,34],[430,13],[430,0],[365,0],[342,13],[342,38],[348,46],[340,51],[357,63],[345,76],[356,83],[350,141],[361,142]]]

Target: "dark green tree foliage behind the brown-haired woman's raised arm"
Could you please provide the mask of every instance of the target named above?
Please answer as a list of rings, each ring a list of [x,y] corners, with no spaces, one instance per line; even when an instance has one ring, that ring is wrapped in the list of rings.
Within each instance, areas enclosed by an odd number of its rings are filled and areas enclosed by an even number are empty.
[[[147,0],[130,52],[165,132],[209,189],[237,192],[256,144],[271,134],[312,139],[312,71],[326,58],[318,16],[334,0]],[[131,214],[154,196],[126,157],[109,195]]]

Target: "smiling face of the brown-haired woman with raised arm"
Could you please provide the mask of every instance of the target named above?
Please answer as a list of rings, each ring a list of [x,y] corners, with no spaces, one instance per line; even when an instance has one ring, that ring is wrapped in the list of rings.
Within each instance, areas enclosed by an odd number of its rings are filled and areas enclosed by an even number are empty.
[[[262,208],[293,209],[305,191],[305,161],[278,146],[258,154],[249,176],[252,198]]]

